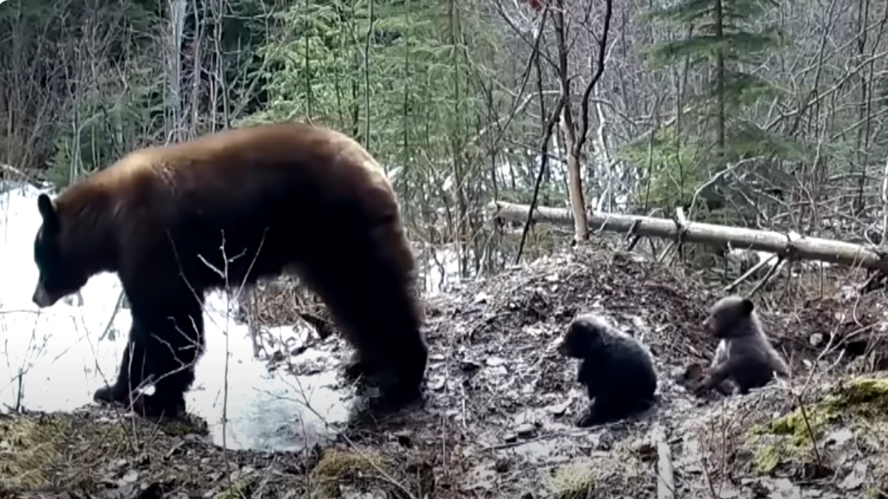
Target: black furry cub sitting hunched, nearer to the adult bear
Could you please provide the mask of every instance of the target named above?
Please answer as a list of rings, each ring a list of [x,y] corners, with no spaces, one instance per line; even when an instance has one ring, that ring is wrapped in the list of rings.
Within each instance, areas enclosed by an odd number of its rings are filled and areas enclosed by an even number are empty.
[[[577,380],[592,400],[577,426],[611,423],[654,405],[657,375],[650,352],[598,315],[576,317],[558,352],[581,360]]]

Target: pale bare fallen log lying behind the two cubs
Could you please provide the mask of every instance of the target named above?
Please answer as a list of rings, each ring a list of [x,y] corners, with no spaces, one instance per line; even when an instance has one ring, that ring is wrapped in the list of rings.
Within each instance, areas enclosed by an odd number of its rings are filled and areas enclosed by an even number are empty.
[[[493,218],[523,224],[527,220],[527,204],[490,202],[488,211]],[[820,260],[837,265],[860,266],[888,272],[888,254],[872,246],[817,237],[802,237],[776,231],[745,227],[717,226],[684,220],[680,211],[678,221],[670,218],[623,215],[622,213],[590,213],[591,231],[629,233],[660,237],[682,242],[696,242],[720,246],[730,244],[734,249],[769,251],[790,260]],[[533,221],[555,226],[573,226],[574,218],[565,208],[537,207]]]

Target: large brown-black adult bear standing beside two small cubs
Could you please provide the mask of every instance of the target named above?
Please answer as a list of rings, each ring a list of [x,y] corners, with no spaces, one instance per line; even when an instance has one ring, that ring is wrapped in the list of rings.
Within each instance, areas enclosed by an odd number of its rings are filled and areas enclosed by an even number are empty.
[[[51,306],[103,271],[130,301],[117,381],[96,400],[184,412],[205,293],[286,272],[318,293],[354,346],[347,373],[376,375],[385,407],[420,396],[428,349],[416,261],[383,170],[342,133],[274,124],[141,149],[54,200],[41,194],[37,207],[34,303]],[[143,382],[155,393],[137,398]]]

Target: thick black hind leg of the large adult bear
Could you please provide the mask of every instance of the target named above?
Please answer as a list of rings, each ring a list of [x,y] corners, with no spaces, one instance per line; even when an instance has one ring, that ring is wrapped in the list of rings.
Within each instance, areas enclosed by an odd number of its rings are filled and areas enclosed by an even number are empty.
[[[372,372],[385,405],[400,407],[421,396],[428,347],[420,331],[413,257],[392,227],[353,231],[305,265],[306,281],[321,296],[359,360],[346,371]],[[321,251],[321,249],[318,249]]]

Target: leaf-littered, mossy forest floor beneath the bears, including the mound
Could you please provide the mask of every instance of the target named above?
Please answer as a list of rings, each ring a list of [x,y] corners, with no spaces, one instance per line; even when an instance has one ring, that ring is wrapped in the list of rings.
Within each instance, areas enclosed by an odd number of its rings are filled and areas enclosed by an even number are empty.
[[[844,293],[762,313],[793,380],[703,400],[682,380],[715,346],[700,324],[717,296],[704,289],[694,276],[636,255],[582,248],[546,257],[427,300],[431,358],[420,407],[288,453],[225,451],[187,425],[158,427],[111,409],[2,416],[0,490],[127,498],[888,497],[888,379],[860,375],[888,358],[884,342],[847,358],[861,350],[855,336],[883,334],[883,294]],[[604,313],[654,352],[660,402],[649,414],[575,427],[588,400],[575,360],[554,347],[586,311]],[[345,360],[336,335],[322,343]],[[658,476],[674,484],[674,495],[657,494]]]

